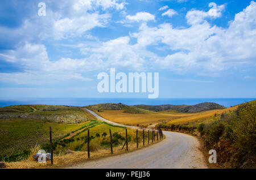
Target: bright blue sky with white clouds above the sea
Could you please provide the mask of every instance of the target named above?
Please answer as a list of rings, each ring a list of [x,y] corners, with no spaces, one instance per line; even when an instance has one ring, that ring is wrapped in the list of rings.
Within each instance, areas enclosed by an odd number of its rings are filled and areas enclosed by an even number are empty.
[[[110,68],[158,72],[159,98],[256,95],[255,1],[2,0],[0,39],[0,98],[147,98],[98,92]]]

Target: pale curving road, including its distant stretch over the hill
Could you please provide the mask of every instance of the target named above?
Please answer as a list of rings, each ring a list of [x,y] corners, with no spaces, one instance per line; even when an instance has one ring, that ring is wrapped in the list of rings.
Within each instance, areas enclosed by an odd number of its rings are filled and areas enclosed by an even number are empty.
[[[98,114],[86,109],[96,118],[108,121]],[[138,128],[133,126],[126,126]],[[203,153],[199,150],[200,143],[195,137],[179,132],[163,131],[166,138],[157,144],[122,155],[99,158],[98,160],[73,165],[69,168],[97,168],[97,169],[170,169],[170,168],[208,168]]]

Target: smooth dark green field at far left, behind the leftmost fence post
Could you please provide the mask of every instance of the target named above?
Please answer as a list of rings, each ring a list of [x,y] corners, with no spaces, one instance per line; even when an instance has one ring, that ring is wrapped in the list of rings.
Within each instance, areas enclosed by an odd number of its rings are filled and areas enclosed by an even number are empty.
[[[55,140],[89,123],[62,124],[39,119],[0,119],[0,157],[21,153],[36,144],[48,143],[49,126],[52,126],[52,138]]]

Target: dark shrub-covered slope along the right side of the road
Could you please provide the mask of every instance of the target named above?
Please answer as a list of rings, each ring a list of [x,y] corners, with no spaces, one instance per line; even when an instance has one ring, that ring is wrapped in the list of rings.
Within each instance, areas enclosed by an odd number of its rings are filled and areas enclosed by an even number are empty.
[[[255,105],[256,101],[247,102],[204,121],[157,126],[200,136],[205,148],[217,151],[217,162],[222,168],[256,168]]]

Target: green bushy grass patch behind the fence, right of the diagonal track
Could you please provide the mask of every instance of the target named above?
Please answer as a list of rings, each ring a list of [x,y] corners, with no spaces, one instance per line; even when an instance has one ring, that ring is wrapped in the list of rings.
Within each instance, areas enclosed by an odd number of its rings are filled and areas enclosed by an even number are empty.
[[[58,145],[56,146],[55,152],[61,153],[67,149],[71,149],[72,151],[87,151],[88,128],[90,130],[90,151],[97,151],[99,149],[105,149],[110,147],[109,130],[112,131],[113,147],[123,145],[123,143],[125,142],[126,135],[124,127],[114,126],[105,122],[100,122],[96,125],[85,128],[79,134],[76,134],[75,136],[73,136],[70,139],[67,139],[66,141],[59,141]],[[97,136],[97,134],[100,136]],[[129,143],[134,144],[136,142],[136,130],[128,128],[127,134]],[[142,142],[142,131],[138,132],[138,136],[139,142]]]

